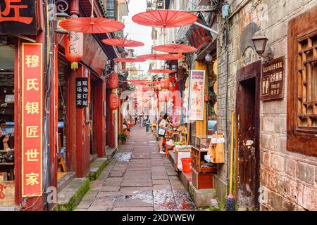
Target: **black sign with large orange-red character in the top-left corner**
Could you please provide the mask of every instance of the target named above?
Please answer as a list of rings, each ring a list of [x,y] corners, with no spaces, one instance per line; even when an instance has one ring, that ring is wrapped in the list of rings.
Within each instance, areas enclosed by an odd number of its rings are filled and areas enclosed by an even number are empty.
[[[36,1],[0,1],[0,34],[37,34]]]

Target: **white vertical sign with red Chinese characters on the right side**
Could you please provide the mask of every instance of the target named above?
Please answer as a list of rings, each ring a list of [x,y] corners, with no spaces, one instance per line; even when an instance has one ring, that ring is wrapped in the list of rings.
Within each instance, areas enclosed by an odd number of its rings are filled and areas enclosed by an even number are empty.
[[[204,120],[205,71],[190,71],[189,120]]]

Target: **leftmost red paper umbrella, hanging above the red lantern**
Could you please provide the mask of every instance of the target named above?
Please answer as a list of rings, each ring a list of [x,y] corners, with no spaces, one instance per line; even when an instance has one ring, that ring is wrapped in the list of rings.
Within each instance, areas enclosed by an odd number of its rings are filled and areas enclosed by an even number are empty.
[[[69,32],[101,34],[123,30],[125,25],[117,20],[94,17],[69,18],[61,21],[60,26]]]

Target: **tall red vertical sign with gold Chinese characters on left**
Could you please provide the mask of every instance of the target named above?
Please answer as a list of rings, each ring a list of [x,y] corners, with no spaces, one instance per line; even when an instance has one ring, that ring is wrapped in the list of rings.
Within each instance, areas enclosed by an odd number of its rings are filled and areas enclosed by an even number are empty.
[[[22,46],[22,195],[42,195],[42,44]]]

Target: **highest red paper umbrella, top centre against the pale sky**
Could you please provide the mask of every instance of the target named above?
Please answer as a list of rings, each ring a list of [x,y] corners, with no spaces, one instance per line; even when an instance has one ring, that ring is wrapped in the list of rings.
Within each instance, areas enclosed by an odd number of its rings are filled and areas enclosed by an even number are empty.
[[[182,27],[197,21],[197,16],[185,11],[154,10],[139,13],[132,20],[140,25],[150,27]]]

